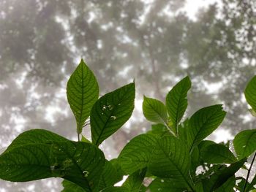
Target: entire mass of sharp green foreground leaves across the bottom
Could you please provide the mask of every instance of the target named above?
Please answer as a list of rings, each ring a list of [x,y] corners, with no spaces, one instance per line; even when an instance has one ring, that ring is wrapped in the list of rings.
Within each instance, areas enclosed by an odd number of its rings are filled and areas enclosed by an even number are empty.
[[[256,103],[255,78],[245,91],[252,109]],[[132,139],[117,159],[108,161],[99,145],[132,115],[135,82],[97,99],[97,80],[82,60],[67,83],[78,142],[43,129],[25,131],[0,155],[0,178],[25,182],[61,177],[63,191],[252,191],[256,176],[251,183],[248,177],[255,155],[246,179],[236,177],[236,172],[246,169],[247,158],[255,153],[255,129],[237,134],[233,141],[236,154],[228,145],[204,140],[219,127],[226,112],[216,104],[184,119],[190,87],[189,77],[178,82],[167,93],[166,105],[144,96],[143,114],[158,124]],[[91,142],[79,137],[88,118]],[[127,180],[116,187],[124,175],[128,175]],[[153,180],[150,185],[144,185],[145,178]]]

